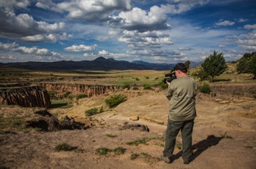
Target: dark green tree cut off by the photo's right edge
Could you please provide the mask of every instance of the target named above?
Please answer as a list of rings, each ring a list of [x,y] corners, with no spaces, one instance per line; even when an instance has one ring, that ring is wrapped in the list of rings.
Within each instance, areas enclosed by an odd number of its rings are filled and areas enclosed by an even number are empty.
[[[256,78],[256,52],[245,53],[237,63],[238,73],[254,74]]]

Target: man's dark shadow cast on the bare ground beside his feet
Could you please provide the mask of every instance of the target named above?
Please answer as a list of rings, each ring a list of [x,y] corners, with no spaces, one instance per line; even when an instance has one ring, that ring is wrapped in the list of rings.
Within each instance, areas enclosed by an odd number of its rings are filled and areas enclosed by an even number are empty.
[[[206,149],[208,149],[209,147],[219,144],[219,141],[221,140],[221,137],[216,137],[215,135],[208,135],[208,137],[203,141],[199,141],[197,144],[192,145],[192,150],[196,149],[196,151],[192,154],[190,161],[192,162],[193,160],[195,160],[202,152],[206,151]],[[182,150],[175,155],[175,159],[178,159],[181,156]]]

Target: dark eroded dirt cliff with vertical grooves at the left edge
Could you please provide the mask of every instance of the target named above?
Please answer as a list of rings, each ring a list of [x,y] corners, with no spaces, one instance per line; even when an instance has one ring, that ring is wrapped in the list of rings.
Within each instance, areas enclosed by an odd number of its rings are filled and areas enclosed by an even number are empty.
[[[23,107],[50,107],[50,95],[39,86],[0,89],[0,103]]]

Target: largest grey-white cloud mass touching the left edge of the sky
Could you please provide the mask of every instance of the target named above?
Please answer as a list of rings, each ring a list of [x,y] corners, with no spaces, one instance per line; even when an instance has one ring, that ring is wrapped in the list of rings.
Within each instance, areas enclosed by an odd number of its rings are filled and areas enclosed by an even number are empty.
[[[65,28],[65,23],[45,23],[34,20],[31,15],[21,13],[16,15],[14,10],[0,9],[0,36],[9,39],[32,42],[56,42],[57,36]],[[56,34],[56,35],[53,35]],[[34,40],[37,39],[37,40]]]

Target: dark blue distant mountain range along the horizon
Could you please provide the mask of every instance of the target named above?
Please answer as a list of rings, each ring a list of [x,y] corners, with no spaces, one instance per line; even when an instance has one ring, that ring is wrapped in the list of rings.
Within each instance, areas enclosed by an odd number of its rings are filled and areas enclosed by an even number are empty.
[[[175,64],[167,63],[147,63],[143,61],[128,62],[124,60],[114,60],[113,58],[99,57],[95,60],[83,61],[66,61],[57,62],[17,62],[17,63],[0,63],[0,68],[23,68],[29,70],[158,70],[165,71],[173,68]]]

